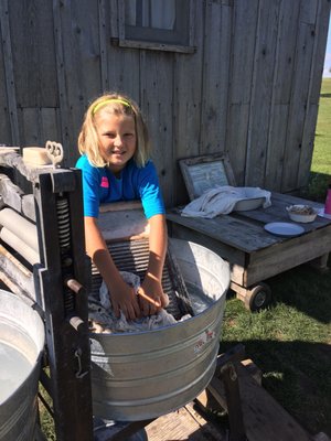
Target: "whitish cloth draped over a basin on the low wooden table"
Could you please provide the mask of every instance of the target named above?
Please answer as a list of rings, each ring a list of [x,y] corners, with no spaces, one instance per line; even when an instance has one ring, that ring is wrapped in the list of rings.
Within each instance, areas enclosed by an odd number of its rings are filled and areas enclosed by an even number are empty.
[[[271,193],[259,187],[216,186],[190,202],[181,212],[182,216],[213,218],[228,214],[238,201],[265,197],[264,208],[271,205]]]

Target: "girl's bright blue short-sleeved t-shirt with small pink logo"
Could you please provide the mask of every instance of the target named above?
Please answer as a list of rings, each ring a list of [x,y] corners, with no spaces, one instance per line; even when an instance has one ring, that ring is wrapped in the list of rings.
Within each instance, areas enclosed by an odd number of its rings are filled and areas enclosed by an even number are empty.
[[[99,205],[141,200],[147,218],[164,214],[157,170],[151,161],[138,168],[131,159],[117,179],[107,166],[97,168],[84,154],[76,163],[83,175],[84,216],[98,217]]]

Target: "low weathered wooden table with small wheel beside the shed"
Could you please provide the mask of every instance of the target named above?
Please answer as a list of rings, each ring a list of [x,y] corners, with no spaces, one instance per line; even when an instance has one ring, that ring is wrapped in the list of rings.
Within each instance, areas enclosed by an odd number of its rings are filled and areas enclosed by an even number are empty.
[[[291,223],[286,207],[322,204],[287,194],[273,193],[271,206],[249,212],[233,212],[213,219],[183,217],[179,208],[167,213],[169,234],[201,244],[232,266],[231,288],[252,311],[265,308],[271,300],[265,279],[308,261],[327,268],[331,250],[331,219],[317,216],[310,224],[296,224],[305,233],[296,237],[276,236],[264,229],[274,222]]]

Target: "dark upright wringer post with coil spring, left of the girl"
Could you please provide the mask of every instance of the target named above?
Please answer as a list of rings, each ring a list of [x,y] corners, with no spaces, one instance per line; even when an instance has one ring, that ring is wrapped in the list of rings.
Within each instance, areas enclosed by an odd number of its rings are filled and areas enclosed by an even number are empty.
[[[34,186],[41,254],[40,290],[45,310],[47,356],[57,441],[93,440],[83,200],[78,171],[54,170]],[[67,220],[65,230],[62,224]],[[70,233],[70,236],[67,234]],[[73,318],[78,322],[71,325]],[[79,320],[78,320],[79,319]]]

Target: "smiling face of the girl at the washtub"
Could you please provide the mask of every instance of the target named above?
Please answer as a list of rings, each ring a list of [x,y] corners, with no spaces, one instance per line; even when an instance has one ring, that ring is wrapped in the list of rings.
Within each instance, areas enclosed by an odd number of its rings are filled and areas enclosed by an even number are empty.
[[[114,174],[134,157],[137,148],[135,119],[126,115],[100,111],[96,118],[99,151]]]

